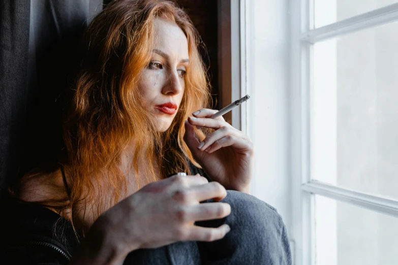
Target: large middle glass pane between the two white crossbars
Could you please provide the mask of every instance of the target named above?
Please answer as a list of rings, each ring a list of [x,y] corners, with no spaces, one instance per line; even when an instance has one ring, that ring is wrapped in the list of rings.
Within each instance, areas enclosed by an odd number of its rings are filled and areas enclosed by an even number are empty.
[[[313,50],[311,178],[398,198],[398,22]]]

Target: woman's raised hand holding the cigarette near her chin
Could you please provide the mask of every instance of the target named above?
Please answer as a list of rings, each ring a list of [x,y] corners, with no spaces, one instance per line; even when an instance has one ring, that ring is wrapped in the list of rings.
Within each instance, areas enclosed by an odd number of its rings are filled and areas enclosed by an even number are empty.
[[[185,122],[184,141],[207,176],[226,189],[249,193],[253,174],[254,145],[250,138],[224,118],[211,119],[217,110],[201,109]],[[202,143],[193,125],[215,129]]]

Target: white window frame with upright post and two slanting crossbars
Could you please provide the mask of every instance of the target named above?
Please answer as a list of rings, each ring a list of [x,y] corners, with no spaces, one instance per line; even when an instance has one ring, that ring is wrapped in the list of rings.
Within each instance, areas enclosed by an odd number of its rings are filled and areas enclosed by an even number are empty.
[[[398,217],[398,201],[311,180],[310,91],[312,45],[319,41],[398,20],[398,3],[314,29],[313,0],[290,0],[291,178],[294,264],[315,264],[312,194]]]

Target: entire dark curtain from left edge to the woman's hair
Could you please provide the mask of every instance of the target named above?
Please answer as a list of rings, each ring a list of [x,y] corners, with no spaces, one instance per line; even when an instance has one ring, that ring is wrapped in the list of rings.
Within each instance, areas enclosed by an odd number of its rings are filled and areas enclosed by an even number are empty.
[[[63,93],[77,44],[102,0],[0,1],[0,200],[33,165],[63,146]]]

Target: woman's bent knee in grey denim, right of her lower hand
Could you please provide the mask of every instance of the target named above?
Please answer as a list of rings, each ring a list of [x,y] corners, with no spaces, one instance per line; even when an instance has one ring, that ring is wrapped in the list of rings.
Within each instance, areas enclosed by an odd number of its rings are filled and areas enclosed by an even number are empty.
[[[231,231],[219,242],[199,244],[202,250],[220,251],[222,246],[223,253],[215,254],[217,257],[251,253],[259,264],[291,264],[286,227],[275,208],[255,196],[234,190],[227,190],[221,202],[231,205],[231,214],[223,219],[204,221],[200,226],[218,227],[226,223]]]

